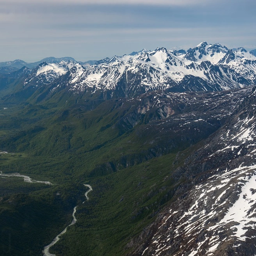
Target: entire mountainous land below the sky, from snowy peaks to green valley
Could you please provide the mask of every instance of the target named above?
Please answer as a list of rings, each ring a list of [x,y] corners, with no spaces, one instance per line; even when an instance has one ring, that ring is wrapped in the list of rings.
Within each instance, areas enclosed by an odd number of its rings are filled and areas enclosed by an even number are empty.
[[[256,255],[254,52],[3,64],[0,254]]]

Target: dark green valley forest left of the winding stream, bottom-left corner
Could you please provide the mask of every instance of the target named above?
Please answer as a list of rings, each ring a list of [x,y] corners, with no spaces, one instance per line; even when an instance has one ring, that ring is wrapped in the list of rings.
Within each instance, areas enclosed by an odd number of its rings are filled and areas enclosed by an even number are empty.
[[[71,221],[81,188],[71,183],[50,187],[18,180],[16,184],[13,179],[0,180],[1,255],[41,255],[51,237]]]

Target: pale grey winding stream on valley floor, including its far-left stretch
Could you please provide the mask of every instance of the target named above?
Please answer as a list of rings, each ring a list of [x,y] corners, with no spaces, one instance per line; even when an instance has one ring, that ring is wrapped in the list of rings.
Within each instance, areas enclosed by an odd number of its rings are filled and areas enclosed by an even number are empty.
[[[20,177],[20,178],[23,178],[23,180],[25,182],[29,182],[29,183],[44,183],[46,185],[52,185],[51,182],[49,181],[41,181],[41,180],[33,180],[31,179],[29,176],[27,175],[23,175],[23,174],[19,174],[19,173],[5,173],[3,174],[2,171],[0,171],[0,177]],[[92,191],[92,187],[88,184],[83,184],[85,187],[89,188],[89,190],[87,190],[84,194],[86,200],[89,200],[89,197],[87,196],[89,192]],[[85,201],[84,201],[85,202]],[[83,203],[84,203],[83,202]],[[51,254],[49,252],[50,248],[59,241],[60,239],[60,236],[63,235],[64,233],[66,233],[67,231],[67,228],[74,225],[76,223],[76,217],[75,217],[75,213],[76,213],[76,208],[77,206],[74,207],[74,210],[73,210],[73,213],[72,213],[72,217],[73,217],[73,220],[71,221],[71,223],[59,234],[57,235],[53,241],[49,244],[49,245],[46,245],[44,246],[44,250],[43,250],[43,253],[44,253],[44,256],[55,256],[55,254]]]

